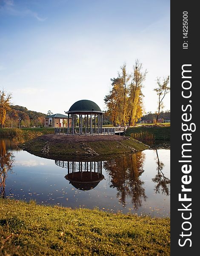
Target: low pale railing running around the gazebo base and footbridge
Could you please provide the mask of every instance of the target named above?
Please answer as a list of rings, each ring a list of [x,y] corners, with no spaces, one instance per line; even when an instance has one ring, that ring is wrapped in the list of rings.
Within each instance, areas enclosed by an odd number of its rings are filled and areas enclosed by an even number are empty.
[[[103,134],[103,135],[114,135],[116,133],[123,133],[125,131],[125,127],[102,127],[102,128],[90,128],[90,127],[83,127],[82,133],[80,127],[74,128],[74,135],[97,135],[97,134]],[[54,128],[54,134],[60,134],[60,135],[72,135],[73,131],[72,128],[67,127],[58,127]]]

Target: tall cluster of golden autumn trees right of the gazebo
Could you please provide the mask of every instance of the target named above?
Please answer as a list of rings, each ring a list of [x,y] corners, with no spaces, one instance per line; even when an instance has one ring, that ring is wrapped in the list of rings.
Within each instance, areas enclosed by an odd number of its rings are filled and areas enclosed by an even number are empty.
[[[112,118],[113,125],[117,123],[125,126],[136,125],[143,116],[143,81],[146,78],[146,70],[142,72],[142,64],[135,61],[133,72],[129,73],[126,64],[123,64],[117,78],[111,79],[112,88],[105,96],[104,102],[107,112]]]

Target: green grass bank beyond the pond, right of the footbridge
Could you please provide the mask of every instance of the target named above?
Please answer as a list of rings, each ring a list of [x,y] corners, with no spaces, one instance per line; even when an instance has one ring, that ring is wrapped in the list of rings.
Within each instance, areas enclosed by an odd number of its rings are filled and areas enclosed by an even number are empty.
[[[126,130],[126,136],[131,136],[131,133],[137,134],[137,133],[147,133],[147,132],[149,134],[153,134],[155,140],[170,140],[170,126],[129,127]]]

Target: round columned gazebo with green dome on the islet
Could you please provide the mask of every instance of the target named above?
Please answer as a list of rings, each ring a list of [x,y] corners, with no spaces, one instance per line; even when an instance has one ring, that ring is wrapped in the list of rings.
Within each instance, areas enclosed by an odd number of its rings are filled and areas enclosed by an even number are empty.
[[[68,134],[70,133],[69,119],[71,118],[71,134],[76,134],[77,116],[79,117],[79,134],[100,134],[103,126],[103,112],[91,100],[75,102],[68,112]]]

